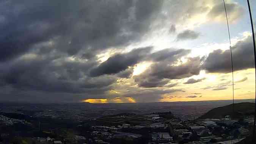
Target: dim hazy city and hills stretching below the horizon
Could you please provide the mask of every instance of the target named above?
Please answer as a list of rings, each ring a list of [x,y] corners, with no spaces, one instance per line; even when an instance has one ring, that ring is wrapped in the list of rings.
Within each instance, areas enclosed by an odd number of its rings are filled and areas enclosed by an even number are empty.
[[[254,100],[1,103],[2,143],[227,144],[251,134]],[[231,105],[230,105],[231,104]],[[217,109],[216,109],[217,108]]]

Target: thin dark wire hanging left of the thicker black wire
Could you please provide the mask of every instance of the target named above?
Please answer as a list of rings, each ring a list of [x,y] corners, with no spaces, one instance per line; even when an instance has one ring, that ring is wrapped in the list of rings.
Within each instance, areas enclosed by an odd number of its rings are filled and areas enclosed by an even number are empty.
[[[231,47],[231,38],[230,38],[230,30],[229,30],[229,24],[228,24],[228,14],[226,9],[225,0],[223,0],[224,8],[225,8],[225,14],[226,14],[226,20],[227,20],[227,26],[228,26],[228,38],[229,38],[229,47],[230,47],[230,55],[231,55],[231,69],[232,69],[232,96],[233,96],[233,105],[232,105],[232,117],[231,117],[231,123],[233,124],[233,118],[234,118],[234,70],[233,70],[233,55],[232,55],[232,47]],[[231,141],[232,143],[232,141]]]

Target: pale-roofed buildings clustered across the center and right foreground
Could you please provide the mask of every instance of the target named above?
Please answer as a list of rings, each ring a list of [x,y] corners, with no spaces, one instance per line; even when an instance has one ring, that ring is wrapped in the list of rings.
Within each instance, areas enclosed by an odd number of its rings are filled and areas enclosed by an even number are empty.
[[[116,126],[93,126],[93,141],[109,142],[113,138],[136,139],[143,135],[141,131],[150,131],[149,144],[228,144],[241,141],[248,136],[248,125],[239,124],[238,120],[226,116],[223,119],[199,119],[197,121],[181,121],[165,119],[158,114],[140,116],[117,116],[116,119],[140,119],[140,124]],[[246,121],[246,120],[245,120]],[[130,132],[124,132],[129,130]],[[132,133],[133,132],[133,133]]]

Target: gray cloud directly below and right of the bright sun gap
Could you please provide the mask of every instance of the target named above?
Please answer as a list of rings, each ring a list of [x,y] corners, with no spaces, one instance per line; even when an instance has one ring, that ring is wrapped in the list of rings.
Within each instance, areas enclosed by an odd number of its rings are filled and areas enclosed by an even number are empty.
[[[164,86],[173,79],[182,79],[198,75],[201,60],[199,57],[188,58],[188,61],[179,66],[170,66],[169,62],[155,63],[142,74],[133,76],[135,82],[142,87]]]

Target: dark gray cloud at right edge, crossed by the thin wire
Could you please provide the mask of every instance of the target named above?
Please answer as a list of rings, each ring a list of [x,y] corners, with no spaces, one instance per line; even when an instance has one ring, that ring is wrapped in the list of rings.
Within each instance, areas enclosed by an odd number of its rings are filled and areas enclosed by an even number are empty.
[[[253,43],[251,36],[232,47],[234,71],[254,68]],[[242,60],[241,60],[242,59]],[[230,50],[215,50],[204,61],[203,68],[210,73],[231,72]]]

